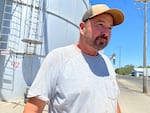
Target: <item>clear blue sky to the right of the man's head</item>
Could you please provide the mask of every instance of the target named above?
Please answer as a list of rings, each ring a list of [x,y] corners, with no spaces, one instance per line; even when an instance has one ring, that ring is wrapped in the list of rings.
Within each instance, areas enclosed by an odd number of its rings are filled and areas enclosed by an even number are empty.
[[[116,54],[115,67],[143,66],[144,4],[134,0],[90,0],[91,5],[102,3],[124,12],[124,23],[112,30],[111,41],[105,54]],[[147,5],[150,8],[150,2]],[[150,9],[149,9],[150,10]],[[150,65],[150,12],[147,11],[147,65]]]

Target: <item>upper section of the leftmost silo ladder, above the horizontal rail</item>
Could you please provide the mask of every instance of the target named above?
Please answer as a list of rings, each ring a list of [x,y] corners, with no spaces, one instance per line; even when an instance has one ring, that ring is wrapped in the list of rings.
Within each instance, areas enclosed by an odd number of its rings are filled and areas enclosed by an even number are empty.
[[[17,51],[19,48],[21,13],[20,0],[5,0],[0,29],[0,51]]]

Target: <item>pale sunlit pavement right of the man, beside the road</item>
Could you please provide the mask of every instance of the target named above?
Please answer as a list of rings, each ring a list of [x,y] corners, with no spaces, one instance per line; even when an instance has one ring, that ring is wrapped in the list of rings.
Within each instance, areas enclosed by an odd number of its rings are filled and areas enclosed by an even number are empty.
[[[142,93],[141,88],[122,77],[118,77],[118,83],[122,113],[150,113],[150,95]]]

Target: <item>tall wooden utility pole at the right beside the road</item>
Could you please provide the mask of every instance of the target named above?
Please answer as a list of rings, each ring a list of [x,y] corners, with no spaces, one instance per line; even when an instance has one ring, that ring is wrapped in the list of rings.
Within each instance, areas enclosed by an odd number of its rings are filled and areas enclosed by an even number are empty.
[[[147,65],[146,65],[146,57],[147,57],[147,2],[149,2],[150,0],[135,0],[135,1],[144,3],[143,93],[148,94],[148,76],[147,76]]]

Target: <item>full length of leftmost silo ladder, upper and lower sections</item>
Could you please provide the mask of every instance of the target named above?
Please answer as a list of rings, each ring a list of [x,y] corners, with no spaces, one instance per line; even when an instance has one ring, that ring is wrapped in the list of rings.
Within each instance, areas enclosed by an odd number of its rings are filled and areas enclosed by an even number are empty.
[[[14,89],[14,56],[19,48],[21,13],[20,0],[4,0],[0,26],[0,72],[3,76],[2,88]]]

